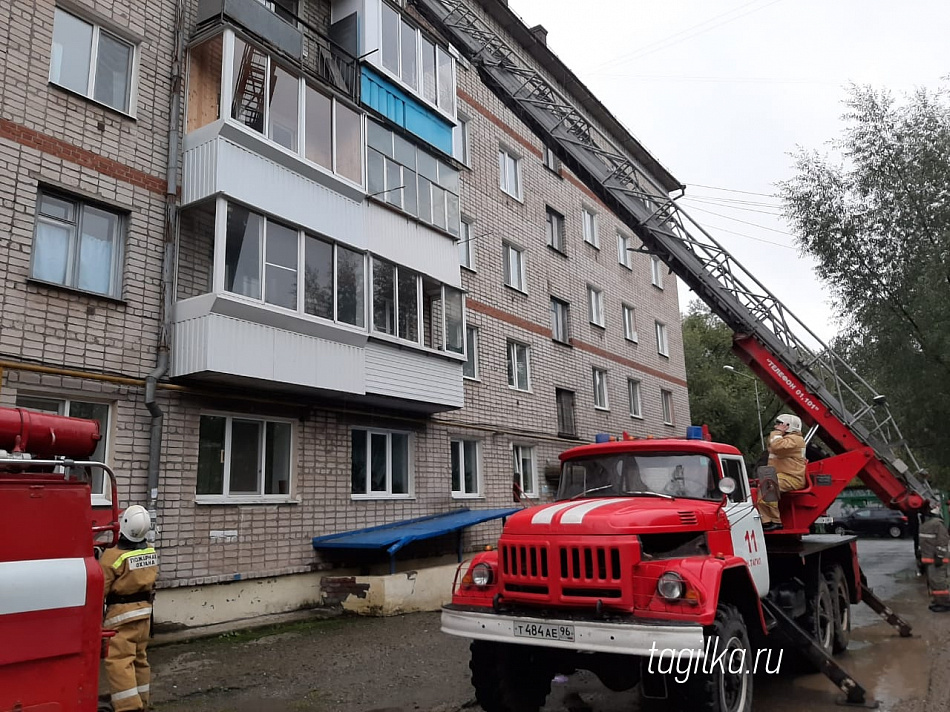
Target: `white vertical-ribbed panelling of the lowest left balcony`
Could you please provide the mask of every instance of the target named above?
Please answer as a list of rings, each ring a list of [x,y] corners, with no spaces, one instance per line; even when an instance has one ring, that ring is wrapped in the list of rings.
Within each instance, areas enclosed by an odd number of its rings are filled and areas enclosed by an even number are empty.
[[[172,375],[214,373],[364,394],[364,350],[243,319],[207,314],[175,324]]]

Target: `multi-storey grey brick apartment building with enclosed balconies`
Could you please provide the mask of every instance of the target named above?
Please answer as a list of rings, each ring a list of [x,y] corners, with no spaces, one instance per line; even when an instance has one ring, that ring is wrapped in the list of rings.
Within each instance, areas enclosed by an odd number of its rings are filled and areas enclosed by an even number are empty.
[[[100,421],[160,622],[315,602],[314,536],[550,499],[565,448],[689,423],[675,279],[411,1],[2,4],[0,403]]]

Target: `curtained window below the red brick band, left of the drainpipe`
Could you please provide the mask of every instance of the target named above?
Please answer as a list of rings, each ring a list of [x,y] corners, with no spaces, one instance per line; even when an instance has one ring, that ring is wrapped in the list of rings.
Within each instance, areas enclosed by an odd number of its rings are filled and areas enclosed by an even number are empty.
[[[34,279],[119,298],[126,217],[40,190],[30,274]]]

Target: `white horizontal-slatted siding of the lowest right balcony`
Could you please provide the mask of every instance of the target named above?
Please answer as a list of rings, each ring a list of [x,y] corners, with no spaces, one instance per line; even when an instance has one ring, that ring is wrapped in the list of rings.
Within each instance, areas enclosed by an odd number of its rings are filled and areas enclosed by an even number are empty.
[[[370,341],[366,345],[366,392],[461,408],[465,404],[462,364]]]

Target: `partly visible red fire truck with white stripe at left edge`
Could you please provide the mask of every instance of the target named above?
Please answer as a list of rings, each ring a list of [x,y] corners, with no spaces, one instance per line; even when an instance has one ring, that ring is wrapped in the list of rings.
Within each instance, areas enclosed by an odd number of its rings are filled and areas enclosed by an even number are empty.
[[[112,471],[87,459],[99,438],[95,421],[0,408],[3,712],[111,710],[98,698],[111,632],[94,547],[118,541],[119,513]],[[107,524],[93,521],[97,469],[111,481]]]

